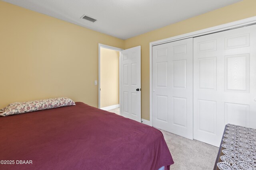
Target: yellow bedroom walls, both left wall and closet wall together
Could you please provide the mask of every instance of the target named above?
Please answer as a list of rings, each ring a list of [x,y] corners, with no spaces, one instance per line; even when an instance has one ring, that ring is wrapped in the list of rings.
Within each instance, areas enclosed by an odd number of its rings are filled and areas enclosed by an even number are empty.
[[[150,43],[254,17],[255,6],[243,0],[124,40],[0,1],[0,108],[62,96],[98,107],[98,43],[140,45],[141,116],[150,121]]]

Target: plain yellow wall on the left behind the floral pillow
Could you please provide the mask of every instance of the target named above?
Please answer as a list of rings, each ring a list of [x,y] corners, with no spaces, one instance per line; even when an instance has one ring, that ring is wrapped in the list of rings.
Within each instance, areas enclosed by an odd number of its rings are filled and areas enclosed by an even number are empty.
[[[98,107],[98,43],[124,40],[0,1],[0,108],[65,96]]]

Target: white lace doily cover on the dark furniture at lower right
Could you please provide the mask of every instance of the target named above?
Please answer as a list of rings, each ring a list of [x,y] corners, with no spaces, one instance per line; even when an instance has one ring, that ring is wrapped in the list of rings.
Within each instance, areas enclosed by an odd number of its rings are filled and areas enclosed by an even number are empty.
[[[256,129],[228,124],[222,141],[220,170],[256,170]]]

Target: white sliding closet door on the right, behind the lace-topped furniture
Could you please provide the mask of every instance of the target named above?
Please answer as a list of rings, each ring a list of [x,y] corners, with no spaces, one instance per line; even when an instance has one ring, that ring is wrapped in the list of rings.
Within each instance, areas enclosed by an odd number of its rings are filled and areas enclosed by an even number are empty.
[[[194,38],[194,139],[219,147],[227,123],[256,128],[256,25]]]

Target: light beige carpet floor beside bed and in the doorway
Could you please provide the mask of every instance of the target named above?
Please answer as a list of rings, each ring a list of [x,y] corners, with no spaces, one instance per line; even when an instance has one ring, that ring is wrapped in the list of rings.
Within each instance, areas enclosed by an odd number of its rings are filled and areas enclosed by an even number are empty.
[[[119,108],[108,110],[119,115]],[[172,154],[174,164],[171,170],[212,170],[218,154],[218,147],[190,140],[159,129]]]

